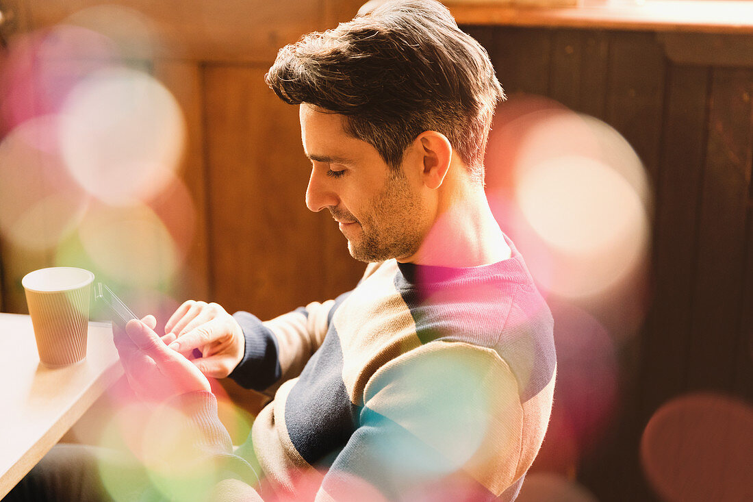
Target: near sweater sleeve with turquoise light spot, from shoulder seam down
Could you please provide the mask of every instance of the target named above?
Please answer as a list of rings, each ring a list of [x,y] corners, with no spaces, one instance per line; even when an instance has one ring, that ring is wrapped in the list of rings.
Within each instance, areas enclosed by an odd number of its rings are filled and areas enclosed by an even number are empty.
[[[513,500],[523,411],[495,351],[436,341],[392,360],[364,388],[359,426],[316,500]],[[527,468],[527,467],[526,467]],[[499,498],[498,498],[499,497]],[[441,497],[438,497],[441,498]]]

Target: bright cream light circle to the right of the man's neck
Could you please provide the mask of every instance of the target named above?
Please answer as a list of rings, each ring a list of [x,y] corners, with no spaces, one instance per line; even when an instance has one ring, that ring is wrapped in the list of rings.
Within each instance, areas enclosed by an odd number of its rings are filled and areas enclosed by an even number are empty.
[[[591,158],[556,158],[520,175],[523,216],[556,266],[536,279],[569,298],[596,295],[633,271],[648,246],[641,197],[620,173]]]

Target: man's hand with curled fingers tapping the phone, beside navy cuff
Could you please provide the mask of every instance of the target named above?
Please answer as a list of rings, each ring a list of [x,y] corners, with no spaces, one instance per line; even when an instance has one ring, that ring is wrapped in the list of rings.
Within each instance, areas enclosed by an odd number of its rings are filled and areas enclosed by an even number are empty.
[[[202,357],[193,363],[213,378],[227,377],[243,358],[243,330],[216,303],[185,302],[167,321],[165,333],[166,339],[171,334],[177,337],[169,347],[181,354],[200,349]]]

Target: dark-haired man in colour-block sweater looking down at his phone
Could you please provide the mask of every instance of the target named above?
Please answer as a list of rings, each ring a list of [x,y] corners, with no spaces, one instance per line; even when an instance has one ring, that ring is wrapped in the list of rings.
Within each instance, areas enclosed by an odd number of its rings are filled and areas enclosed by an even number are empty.
[[[284,47],[267,83],[299,106],[306,205],[370,265],[351,292],[266,323],[193,301],[161,340],[153,317],[131,321],[117,346],[132,387],[179,412],[166,435],[189,436],[164,464],[197,473],[191,487],[207,473],[197,500],[514,500],[556,360],[550,311],[483,191],[504,99],[486,51],[434,0],[386,2]],[[204,375],[273,396],[234,454]],[[150,479],[156,498],[187,496]]]

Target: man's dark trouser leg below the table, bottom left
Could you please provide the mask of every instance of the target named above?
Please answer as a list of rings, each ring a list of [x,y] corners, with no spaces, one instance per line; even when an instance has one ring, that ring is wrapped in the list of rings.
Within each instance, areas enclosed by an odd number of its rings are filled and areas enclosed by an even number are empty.
[[[2,502],[159,499],[159,492],[149,482],[145,470],[123,452],[59,444],[44,455]]]

